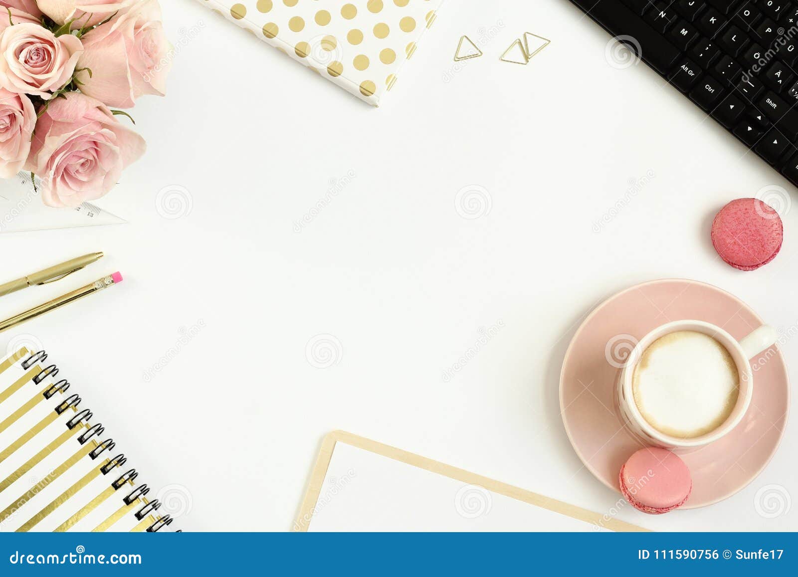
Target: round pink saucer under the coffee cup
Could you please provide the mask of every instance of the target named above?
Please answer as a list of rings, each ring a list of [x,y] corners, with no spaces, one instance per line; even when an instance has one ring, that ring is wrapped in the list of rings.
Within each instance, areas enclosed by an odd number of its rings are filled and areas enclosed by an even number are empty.
[[[691,280],[663,279],[602,302],[587,315],[568,346],[559,381],[563,424],[585,467],[614,491],[620,492],[622,465],[643,446],[623,425],[614,402],[624,352],[656,326],[685,318],[712,322],[735,338],[763,324],[749,306],[725,290]],[[776,346],[753,359],[752,366],[753,400],[740,425],[712,445],[679,453],[693,477],[693,492],[681,509],[705,507],[732,496],[759,475],[778,449],[790,403],[787,367]]]

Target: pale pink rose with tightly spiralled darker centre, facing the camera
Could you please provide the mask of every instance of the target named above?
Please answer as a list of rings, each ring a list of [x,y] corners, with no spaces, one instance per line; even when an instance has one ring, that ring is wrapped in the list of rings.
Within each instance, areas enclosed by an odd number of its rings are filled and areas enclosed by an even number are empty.
[[[38,24],[15,24],[0,34],[0,87],[49,100],[69,82],[83,51],[72,34],[55,34]]]

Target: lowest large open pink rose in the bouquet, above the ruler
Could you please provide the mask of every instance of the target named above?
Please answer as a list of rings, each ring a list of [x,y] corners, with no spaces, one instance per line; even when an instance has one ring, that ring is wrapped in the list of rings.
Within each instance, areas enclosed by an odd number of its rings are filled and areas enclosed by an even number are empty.
[[[45,204],[77,207],[109,192],[145,148],[144,139],[102,102],[66,93],[39,118],[25,169],[43,181]]]

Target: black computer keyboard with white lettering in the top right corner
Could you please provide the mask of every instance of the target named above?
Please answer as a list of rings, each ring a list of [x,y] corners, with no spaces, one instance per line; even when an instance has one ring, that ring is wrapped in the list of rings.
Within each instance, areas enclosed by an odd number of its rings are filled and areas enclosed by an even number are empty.
[[[798,0],[571,0],[798,186]]]

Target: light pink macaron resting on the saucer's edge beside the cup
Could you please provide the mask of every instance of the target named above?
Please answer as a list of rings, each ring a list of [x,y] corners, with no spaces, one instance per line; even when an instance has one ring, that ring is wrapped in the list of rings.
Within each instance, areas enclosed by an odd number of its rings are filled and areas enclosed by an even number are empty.
[[[693,490],[687,465],[667,449],[640,449],[621,467],[621,492],[636,509],[660,515],[681,507]]]

